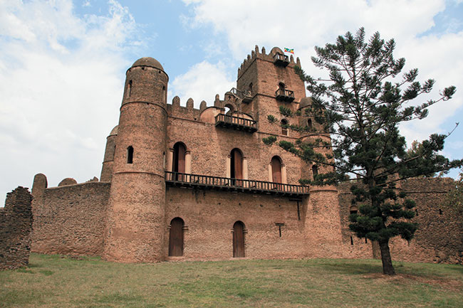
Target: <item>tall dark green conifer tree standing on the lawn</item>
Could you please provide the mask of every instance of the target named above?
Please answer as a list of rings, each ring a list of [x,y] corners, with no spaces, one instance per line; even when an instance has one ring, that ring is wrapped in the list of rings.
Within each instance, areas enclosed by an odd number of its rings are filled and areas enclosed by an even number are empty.
[[[378,241],[387,275],[395,275],[390,238],[410,240],[417,230],[417,225],[409,221],[415,216],[415,203],[396,188],[397,181],[432,176],[462,165],[462,160],[449,161],[439,154],[447,135],[432,134],[407,151],[399,124],[424,119],[428,107],[452,98],[456,88],[445,88],[436,100],[410,104],[431,92],[435,80],[419,83],[418,70],[412,69],[397,81],[405,59],[396,60],[394,49],[395,41],[384,41],[380,33],[365,42],[363,28],[355,35],[348,32],[338,36],[335,43],[316,47],[317,57],[312,61],[316,67],[328,70],[329,80],[315,79],[296,68],[312,97],[312,105],[303,113],[331,133],[334,157],[313,150],[326,146],[320,139],[279,142],[280,147],[311,164],[333,166],[334,171],[304,183],[333,184],[353,176],[361,180],[351,188],[359,211],[350,215],[349,227],[360,238]]]

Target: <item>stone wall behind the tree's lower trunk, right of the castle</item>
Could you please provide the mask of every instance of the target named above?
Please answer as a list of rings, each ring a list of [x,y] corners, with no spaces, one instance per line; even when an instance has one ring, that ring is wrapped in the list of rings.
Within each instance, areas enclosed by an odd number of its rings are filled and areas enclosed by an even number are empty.
[[[408,179],[400,187],[416,202],[412,222],[419,227],[415,237],[393,238],[390,250],[393,260],[410,262],[463,263],[463,221],[444,199],[453,186],[452,179]],[[344,257],[379,257],[375,243],[356,238],[348,228],[352,195],[348,184],[338,186]],[[353,238],[353,243],[350,242]]]

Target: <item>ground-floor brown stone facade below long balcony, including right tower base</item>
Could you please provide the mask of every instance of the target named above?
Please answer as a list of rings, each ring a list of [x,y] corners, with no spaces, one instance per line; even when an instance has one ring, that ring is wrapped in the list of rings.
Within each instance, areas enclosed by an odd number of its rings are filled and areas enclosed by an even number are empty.
[[[167,255],[170,222],[180,217],[184,221],[182,259],[233,257],[236,221],[245,226],[245,257],[336,257],[340,244],[339,219],[336,221],[336,216],[332,216],[323,220],[323,213],[317,213],[328,207],[330,203],[326,201],[311,204],[307,199],[297,202],[282,196],[168,187],[165,252]]]

